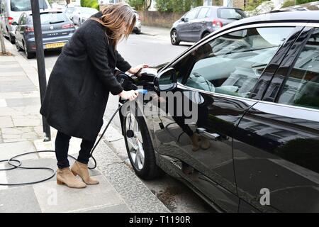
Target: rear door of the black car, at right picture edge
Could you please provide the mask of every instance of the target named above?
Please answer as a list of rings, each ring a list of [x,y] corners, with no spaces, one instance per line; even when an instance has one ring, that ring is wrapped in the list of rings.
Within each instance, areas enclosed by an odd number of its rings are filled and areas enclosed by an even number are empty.
[[[236,134],[240,211],[319,211],[318,27],[303,30]]]

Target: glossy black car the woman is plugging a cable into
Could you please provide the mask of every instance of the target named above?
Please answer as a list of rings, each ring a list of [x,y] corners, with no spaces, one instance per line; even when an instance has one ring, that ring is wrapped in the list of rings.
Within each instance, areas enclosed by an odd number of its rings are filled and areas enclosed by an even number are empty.
[[[318,13],[245,18],[145,69],[138,108],[120,100],[135,174],[166,172],[217,211],[319,212]]]

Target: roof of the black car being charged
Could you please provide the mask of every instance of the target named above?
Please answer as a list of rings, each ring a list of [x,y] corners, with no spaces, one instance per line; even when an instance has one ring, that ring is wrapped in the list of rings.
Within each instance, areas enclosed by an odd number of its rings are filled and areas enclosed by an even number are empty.
[[[233,26],[240,26],[243,24],[250,24],[250,23],[282,23],[282,22],[319,23],[318,15],[319,15],[319,11],[288,11],[288,12],[279,12],[279,13],[265,13],[259,16],[243,18],[240,21],[235,21],[233,23],[230,23],[229,26],[233,27]]]

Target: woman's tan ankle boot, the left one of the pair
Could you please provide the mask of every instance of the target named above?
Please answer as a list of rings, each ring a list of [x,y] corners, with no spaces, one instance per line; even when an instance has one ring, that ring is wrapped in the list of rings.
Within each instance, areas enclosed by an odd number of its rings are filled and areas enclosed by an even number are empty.
[[[74,189],[84,189],[86,184],[80,182],[74,175],[72,175],[69,167],[63,169],[57,169],[57,184],[66,184],[67,187],[71,187]]]

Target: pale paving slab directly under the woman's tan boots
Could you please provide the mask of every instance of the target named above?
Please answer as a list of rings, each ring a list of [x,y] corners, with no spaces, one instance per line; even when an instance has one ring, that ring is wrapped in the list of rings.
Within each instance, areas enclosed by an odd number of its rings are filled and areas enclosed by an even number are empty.
[[[123,199],[105,177],[96,179],[100,184],[88,185],[85,189],[70,189],[54,181],[35,184],[33,188],[42,212],[72,212],[123,204]]]

